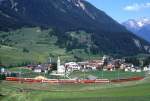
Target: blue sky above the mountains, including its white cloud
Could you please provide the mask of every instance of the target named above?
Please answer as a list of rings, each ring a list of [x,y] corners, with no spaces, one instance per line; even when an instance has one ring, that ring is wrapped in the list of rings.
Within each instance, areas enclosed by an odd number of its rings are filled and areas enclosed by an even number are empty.
[[[87,0],[118,22],[150,18],[150,0]]]

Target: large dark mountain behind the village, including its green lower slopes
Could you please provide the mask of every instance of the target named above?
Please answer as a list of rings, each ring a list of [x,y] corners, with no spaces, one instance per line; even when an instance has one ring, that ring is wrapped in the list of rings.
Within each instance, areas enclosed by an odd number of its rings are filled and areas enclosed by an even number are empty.
[[[1,61],[9,57],[8,49],[33,58],[44,54],[42,60],[56,53],[80,59],[150,51],[147,41],[85,0],[0,0],[0,30]]]

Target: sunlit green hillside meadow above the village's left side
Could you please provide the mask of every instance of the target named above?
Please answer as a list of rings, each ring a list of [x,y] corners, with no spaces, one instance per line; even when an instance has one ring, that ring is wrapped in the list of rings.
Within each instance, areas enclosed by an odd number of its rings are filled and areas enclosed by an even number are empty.
[[[56,45],[57,37],[52,33],[52,29],[41,30],[38,27],[0,32],[0,40],[3,40],[3,43],[0,43],[0,62],[6,66],[47,63],[50,54],[55,58],[61,56],[63,60],[73,59],[66,49]]]

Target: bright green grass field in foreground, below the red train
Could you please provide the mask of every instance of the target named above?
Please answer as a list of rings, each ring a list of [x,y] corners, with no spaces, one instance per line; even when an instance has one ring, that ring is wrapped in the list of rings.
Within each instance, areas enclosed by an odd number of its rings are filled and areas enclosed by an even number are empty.
[[[150,78],[120,84],[50,85],[3,81],[1,101],[149,101]]]

